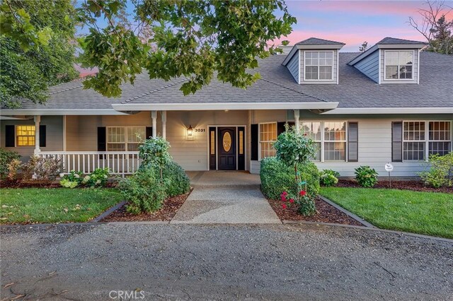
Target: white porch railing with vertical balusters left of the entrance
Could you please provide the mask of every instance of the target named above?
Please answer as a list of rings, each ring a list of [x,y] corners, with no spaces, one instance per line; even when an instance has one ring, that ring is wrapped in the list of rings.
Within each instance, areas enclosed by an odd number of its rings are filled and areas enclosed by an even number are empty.
[[[65,174],[71,170],[89,174],[96,168],[108,167],[110,174],[124,176],[134,173],[142,163],[134,151],[42,151],[38,155],[61,158]]]

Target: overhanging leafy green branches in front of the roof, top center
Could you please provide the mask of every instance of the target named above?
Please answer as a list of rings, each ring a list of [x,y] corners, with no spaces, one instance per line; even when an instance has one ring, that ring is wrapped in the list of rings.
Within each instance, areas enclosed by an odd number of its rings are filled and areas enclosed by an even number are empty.
[[[125,9],[131,4],[134,9]],[[134,11],[128,17],[138,27],[122,20],[127,11]],[[260,78],[250,71],[258,58],[278,51],[269,41],[287,36],[296,23],[283,0],[87,0],[78,12],[90,28],[80,39],[82,66],[99,67],[84,85],[107,96],[120,95],[120,84],[133,83],[142,67],[150,78],[188,78],[180,88],[185,95],[210,83],[214,73],[246,88]],[[99,18],[108,20],[103,29]]]

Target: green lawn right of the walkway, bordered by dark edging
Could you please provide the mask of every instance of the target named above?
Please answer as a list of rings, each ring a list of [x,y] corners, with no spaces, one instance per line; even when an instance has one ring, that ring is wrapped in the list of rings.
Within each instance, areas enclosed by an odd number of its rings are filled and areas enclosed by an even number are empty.
[[[453,194],[344,187],[320,194],[379,228],[453,238]]]

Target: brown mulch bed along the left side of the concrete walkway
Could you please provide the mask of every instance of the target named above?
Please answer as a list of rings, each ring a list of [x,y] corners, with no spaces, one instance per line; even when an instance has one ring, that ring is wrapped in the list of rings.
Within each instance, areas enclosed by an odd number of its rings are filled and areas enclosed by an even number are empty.
[[[126,211],[127,203],[121,206],[116,211],[113,211],[109,216],[103,218],[101,222],[144,222],[144,221],[170,221],[179,210],[183,203],[188,198],[190,192],[181,194],[180,196],[173,196],[164,201],[164,205],[159,211],[154,213],[142,213],[134,215]]]

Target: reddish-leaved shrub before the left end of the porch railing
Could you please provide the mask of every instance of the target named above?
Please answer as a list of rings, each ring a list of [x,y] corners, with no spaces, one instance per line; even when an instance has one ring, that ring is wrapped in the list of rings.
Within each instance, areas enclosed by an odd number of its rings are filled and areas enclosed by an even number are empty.
[[[32,155],[22,166],[23,179],[53,181],[63,172],[62,159]]]

